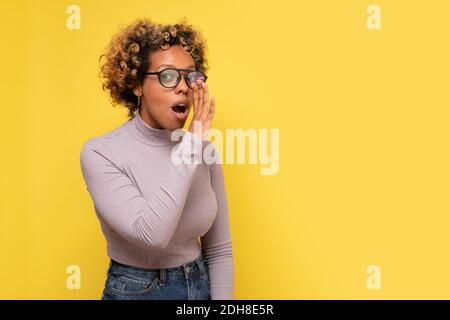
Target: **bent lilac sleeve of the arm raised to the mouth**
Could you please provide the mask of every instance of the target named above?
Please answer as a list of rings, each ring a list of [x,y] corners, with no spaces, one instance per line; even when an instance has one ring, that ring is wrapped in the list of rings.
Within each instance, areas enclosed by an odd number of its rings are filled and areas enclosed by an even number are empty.
[[[201,145],[201,138],[187,131],[172,156],[196,158]],[[120,157],[102,140],[91,139],[83,145],[80,163],[94,205],[111,229],[140,247],[167,247],[183,211],[197,162],[171,161],[167,177],[148,199],[121,169]]]

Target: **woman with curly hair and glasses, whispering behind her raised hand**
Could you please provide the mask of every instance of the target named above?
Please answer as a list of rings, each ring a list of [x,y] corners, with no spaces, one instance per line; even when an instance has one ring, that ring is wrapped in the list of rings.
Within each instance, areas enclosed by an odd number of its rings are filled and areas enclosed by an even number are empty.
[[[86,141],[80,154],[111,259],[102,299],[233,299],[220,161],[186,161],[212,146],[205,50],[185,21],[139,19],[101,56],[103,89],[129,110],[125,123]],[[175,131],[184,134],[174,140]]]

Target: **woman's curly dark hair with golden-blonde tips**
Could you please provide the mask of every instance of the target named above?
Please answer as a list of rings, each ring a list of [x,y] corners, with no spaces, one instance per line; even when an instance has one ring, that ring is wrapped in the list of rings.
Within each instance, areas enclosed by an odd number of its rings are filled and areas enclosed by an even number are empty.
[[[128,108],[129,118],[137,113],[138,97],[133,89],[144,81],[144,73],[151,63],[150,53],[172,45],[180,45],[194,59],[196,70],[206,73],[206,41],[185,17],[174,25],[137,19],[112,37],[105,53],[100,55],[99,76],[113,106]],[[102,58],[105,58],[103,63]]]

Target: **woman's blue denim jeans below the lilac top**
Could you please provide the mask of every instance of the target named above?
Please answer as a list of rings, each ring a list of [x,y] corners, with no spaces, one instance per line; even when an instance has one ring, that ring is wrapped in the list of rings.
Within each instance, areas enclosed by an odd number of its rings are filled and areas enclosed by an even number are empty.
[[[211,300],[203,254],[166,269],[144,269],[111,259],[102,300]]]

